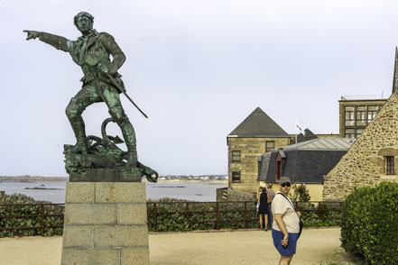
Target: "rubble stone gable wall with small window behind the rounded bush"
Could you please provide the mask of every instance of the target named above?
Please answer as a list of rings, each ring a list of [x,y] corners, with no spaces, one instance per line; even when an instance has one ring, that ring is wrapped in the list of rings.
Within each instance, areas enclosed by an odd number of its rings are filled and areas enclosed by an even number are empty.
[[[325,178],[323,199],[344,199],[355,187],[375,187],[381,181],[398,182],[397,165],[398,96],[393,93]]]

